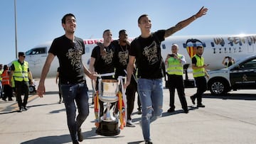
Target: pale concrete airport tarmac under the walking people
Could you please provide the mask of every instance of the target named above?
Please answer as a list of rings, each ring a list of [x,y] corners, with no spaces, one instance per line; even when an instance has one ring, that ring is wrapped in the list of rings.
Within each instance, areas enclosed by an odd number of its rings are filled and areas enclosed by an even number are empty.
[[[36,81],[38,82],[38,81]],[[87,81],[90,87],[90,81]],[[169,109],[169,90],[164,89],[164,113],[151,123],[153,143],[211,144],[211,143],[256,143],[256,90],[230,92],[226,96],[211,96],[206,92],[203,104],[196,109],[189,96],[195,88],[185,89],[189,113],[183,113],[176,93],[176,111]],[[90,98],[92,94],[90,93]],[[39,98],[30,95],[28,111],[16,112],[16,101],[0,100],[1,144],[60,144],[72,143],[68,131],[64,104],[58,104],[58,85],[55,79],[46,79],[46,95]],[[90,99],[90,104],[91,104]],[[132,115],[135,128],[125,127],[119,135],[102,136],[95,133],[94,109],[82,125],[84,144],[140,144],[144,143],[137,114],[137,101]]]

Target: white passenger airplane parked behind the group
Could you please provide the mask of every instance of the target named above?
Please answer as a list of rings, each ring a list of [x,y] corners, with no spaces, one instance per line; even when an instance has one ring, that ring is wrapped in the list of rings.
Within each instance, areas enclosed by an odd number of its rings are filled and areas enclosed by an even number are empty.
[[[132,42],[134,38],[128,38]],[[92,49],[97,41],[103,43],[103,39],[85,39],[85,55],[82,62],[88,68]],[[42,43],[26,52],[26,61],[29,64],[34,78],[41,77],[41,71],[48,55],[52,42]],[[243,57],[256,54],[256,34],[248,35],[189,35],[170,36],[161,43],[161,55],[165,59],[171,53],[171,45],[176,43],[179,46],[178,53],[186,57],[186,64],[191,64],[191,57],[196,53],[196,46],[203,45],[203,57],[205,63],[209,64],[208,70],[224,68],[223,57],[233,57],[235,61]],[[55,77],[58,68],[58,58],[55,58],[50,66],[47,77]],[[191,67],[191,66],[190,66]]]

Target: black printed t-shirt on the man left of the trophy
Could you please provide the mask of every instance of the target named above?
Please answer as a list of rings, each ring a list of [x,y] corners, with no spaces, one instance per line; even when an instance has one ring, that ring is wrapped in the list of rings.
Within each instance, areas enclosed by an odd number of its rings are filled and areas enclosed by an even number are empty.
[[[81,38],[70,40],[65,35],[55,38],[48,51],[56,55],[60,64],[60,84],[78,84],[85,82],[82,55],[85,43]]]

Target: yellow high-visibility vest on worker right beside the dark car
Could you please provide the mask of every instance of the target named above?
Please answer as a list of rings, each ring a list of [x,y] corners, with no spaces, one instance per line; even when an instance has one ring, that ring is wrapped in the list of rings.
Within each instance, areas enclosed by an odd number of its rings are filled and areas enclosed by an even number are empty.
[[[204,59],[203,57],[198,57],[198,55],[194,55],[193,57],[196,57],[196,66],[201,67],[204,65]],[[192,57],[192,58],[193,58]],[[202,67],[200,69],[193,69],[193,77],[204,77],[205,74],[205,69]]]

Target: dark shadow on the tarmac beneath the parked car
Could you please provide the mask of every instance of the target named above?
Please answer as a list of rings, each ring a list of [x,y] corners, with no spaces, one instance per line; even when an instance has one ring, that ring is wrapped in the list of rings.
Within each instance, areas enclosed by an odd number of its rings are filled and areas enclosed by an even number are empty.
[[[222,96],[214,96],[212,94],[203,94],[204,99],[243,99],[248,101],[256,100],[255,94],[225,94]]]

